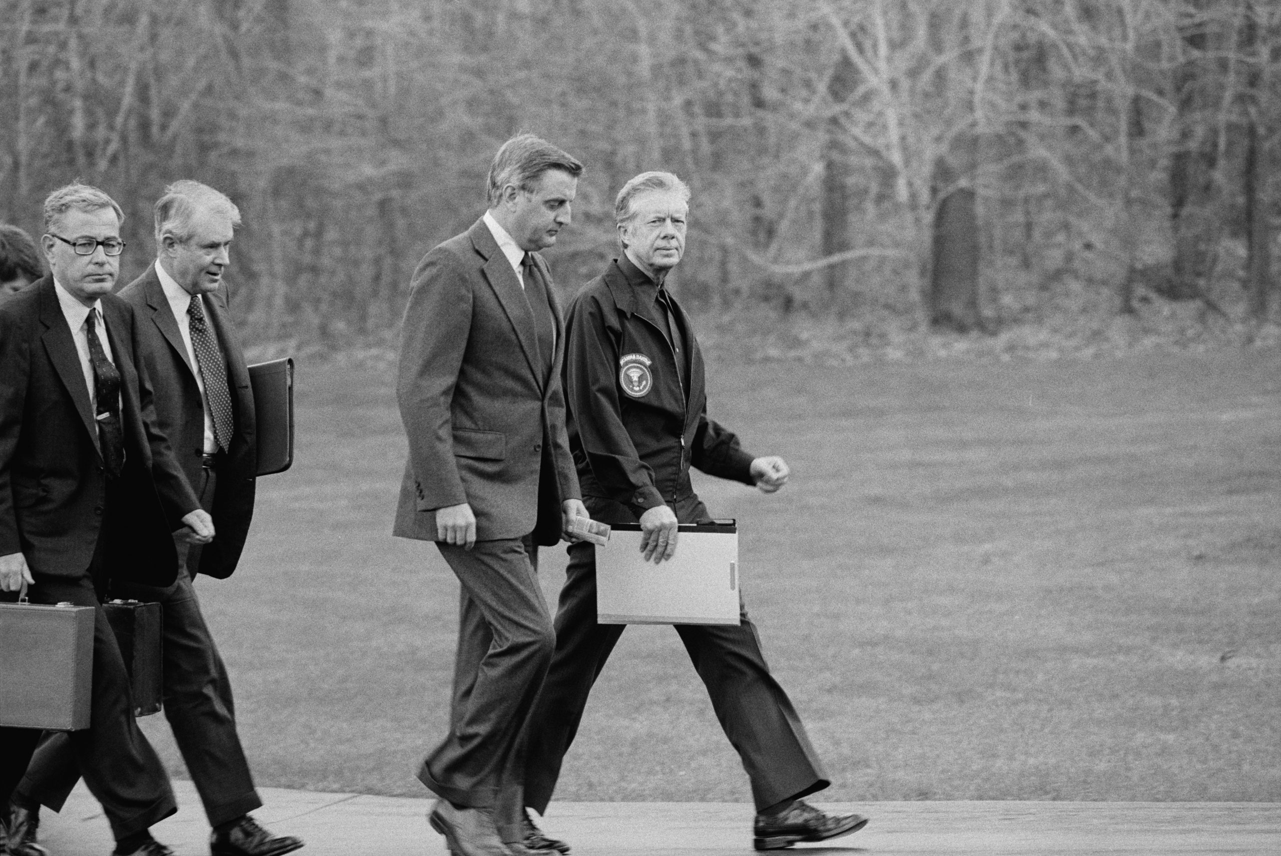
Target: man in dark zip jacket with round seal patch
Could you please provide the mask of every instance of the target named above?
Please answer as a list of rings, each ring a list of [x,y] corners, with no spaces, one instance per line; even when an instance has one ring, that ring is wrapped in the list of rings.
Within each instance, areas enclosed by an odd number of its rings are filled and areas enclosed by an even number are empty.
[[[566,322],[565,397],[583,502],[601,522],[639,521],[640,549],[653,562],[674,555],[678,523],[710,519],[690,485],[690,466],[765,493],[788,480],[781,458],[748,454],[733,432],[707,418],[698,340],[664,287],[684,252],[688,200],[689,189],[670,173],[643,173],[624,186],[615,203],[624,255],[579,292]],[[556,654],[525,761],[525,805],[539,812],[551,801],[592,683],[624,630],[596,623],[594,548],[580,543],[569,551]],[[862,828],[867,821],[860,815],[828,815],[801,800],[830,782],[765,664],[746,608],[737,626],[678,624],[676,632],[751,779],[756,848]],[[569,851],[532,820],[526,829],[528,847]]]

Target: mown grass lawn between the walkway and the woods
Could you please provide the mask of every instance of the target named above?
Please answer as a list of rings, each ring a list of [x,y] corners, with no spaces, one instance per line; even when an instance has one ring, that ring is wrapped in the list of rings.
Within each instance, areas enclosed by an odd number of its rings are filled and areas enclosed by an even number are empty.
[[[821,800],[1281,800],[1281,354],[708,371],[712,415],[793,468],[699,491],[739,518]],[[391,372],[298,375],[295,466],[197,586],[241,734],[260,784],[424,796],[457,583],[389,535]],[[557,796],[749,801],[670,628],[628,630]]]

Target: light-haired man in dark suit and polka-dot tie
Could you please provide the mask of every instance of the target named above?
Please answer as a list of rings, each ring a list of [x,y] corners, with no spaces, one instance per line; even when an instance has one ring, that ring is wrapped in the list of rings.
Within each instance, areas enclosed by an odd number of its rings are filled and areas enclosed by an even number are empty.
[[[240,210],[223,193],[199,182],[170,184],[155,205],[159,257],[119,293],[138,319],[156,426],[218,519],[218,537],[178,540],[173,585],[113,581],[111,595],[163,604],[164,711],[213,827],[213,856],[281,856],[302,842],[273,837],[249,816],[263,801],[236,733],[227,668],[192,586],[196,573],[231,576],[254,513],[254,395],[219,288],[237,225]],[[35,820],[40,805],[61,809],[79,778],[69,750],[65,736],[41,746],[14,795],[14,816]]]

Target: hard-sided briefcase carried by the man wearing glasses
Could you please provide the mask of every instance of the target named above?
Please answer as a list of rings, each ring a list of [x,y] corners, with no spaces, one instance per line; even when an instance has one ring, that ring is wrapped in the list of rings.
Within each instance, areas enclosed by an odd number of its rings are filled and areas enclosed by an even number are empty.
[[[0,725],[88,728],[92,683],[92,606],[0,604]]]

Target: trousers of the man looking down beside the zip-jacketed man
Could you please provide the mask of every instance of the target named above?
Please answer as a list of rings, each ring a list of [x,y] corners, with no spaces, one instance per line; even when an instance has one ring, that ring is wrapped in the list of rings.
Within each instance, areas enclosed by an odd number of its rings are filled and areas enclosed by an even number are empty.
[[[528,539],[438,543],[461,583],[450,733],[418,778],[460,806],[488,809],[503,841],[521,841],[525,720],[556,637]]]

